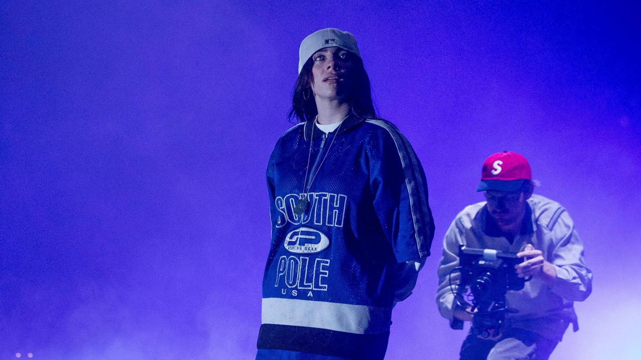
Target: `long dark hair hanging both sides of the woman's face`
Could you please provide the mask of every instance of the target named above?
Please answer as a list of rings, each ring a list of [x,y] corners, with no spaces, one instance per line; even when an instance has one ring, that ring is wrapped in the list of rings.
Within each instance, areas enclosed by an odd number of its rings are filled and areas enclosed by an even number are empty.
[[[350,52],[350,55],[352,81],[349,94],[346,95],[346,101],[349,102],[351,111],[358,117],[378,118],[376,110],[374,110],[374,102],[372,102],[372,86],[369,82],[369,76],[365,72],[363,60],[354,53]],[[292,122],[310,121],[319,113],[311,88],[313,62],[311,57],[306,61],[301,74],[298,75],[296,85],[294,85],[292,108],[288,115],[288,119]]]

